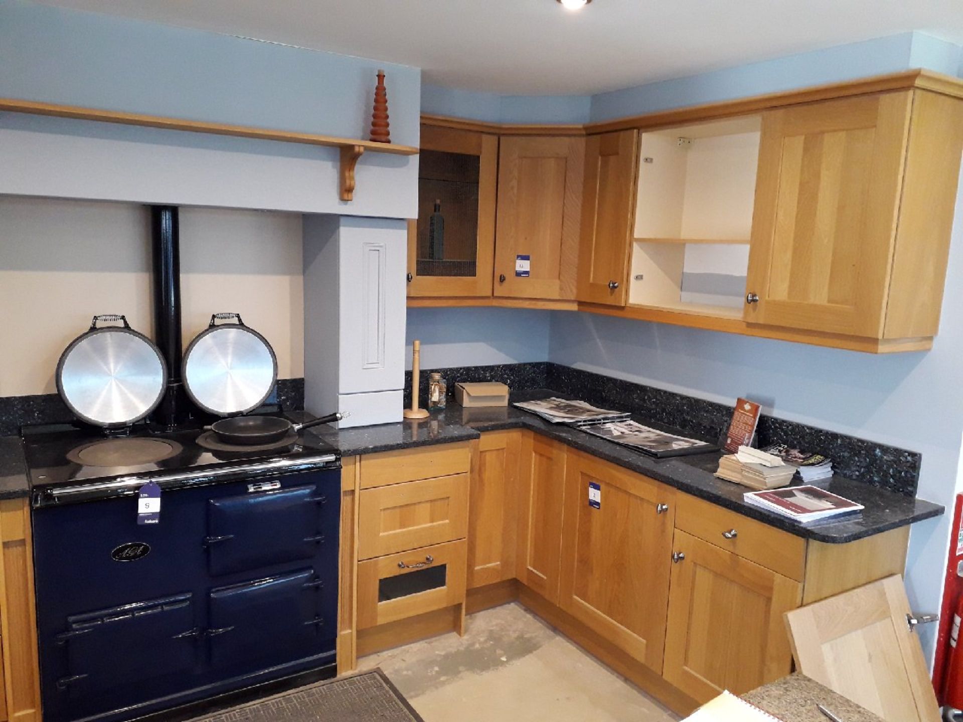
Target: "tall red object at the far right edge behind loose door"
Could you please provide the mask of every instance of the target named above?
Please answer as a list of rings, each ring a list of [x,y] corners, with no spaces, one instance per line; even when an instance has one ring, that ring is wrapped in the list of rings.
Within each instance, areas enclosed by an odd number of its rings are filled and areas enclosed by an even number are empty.
[[[963,643],[956,643],[960,619],[963,618],[963,578],[956,571],[963,562],[963,494],[956,495],[950,529],[950,554],[933,661],[933,688],[941,705],[963,709]]]

